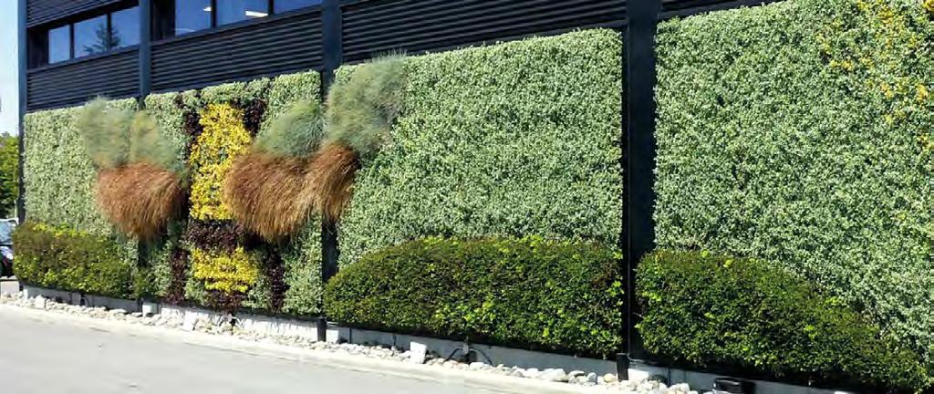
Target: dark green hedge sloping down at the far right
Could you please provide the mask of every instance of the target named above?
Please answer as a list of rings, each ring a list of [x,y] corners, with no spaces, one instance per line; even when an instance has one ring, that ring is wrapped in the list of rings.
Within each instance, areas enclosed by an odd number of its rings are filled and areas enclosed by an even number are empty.
[[[662,250],[642,260],[636,283],[639,331],[662,358],[810,384],[855,380],[872,392],[931,383],[907,346],[773,264]]]

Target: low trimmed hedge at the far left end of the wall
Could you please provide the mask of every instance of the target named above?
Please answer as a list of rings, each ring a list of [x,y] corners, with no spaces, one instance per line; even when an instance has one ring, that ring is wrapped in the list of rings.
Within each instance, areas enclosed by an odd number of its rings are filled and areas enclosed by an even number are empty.
[[[134,299],[137,270],[128,250],[110,237],[23,223],[13,232],[13,270],[25,284]]]

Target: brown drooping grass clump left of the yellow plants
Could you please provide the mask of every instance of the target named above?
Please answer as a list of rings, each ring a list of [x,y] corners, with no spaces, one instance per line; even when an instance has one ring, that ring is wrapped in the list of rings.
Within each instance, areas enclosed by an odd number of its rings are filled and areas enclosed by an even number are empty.
[[[102,168],[96,189],[97,204],[110,222],[141,239],[163,231],[185,194],[174,173],[145,162]]]

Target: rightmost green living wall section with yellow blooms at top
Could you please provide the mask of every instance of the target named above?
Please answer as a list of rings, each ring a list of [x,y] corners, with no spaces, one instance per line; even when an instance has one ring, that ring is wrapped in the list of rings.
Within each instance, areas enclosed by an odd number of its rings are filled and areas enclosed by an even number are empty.
[[[795,0],[658,32],[658,244],[781,264],[934,359],[934,7]]]

